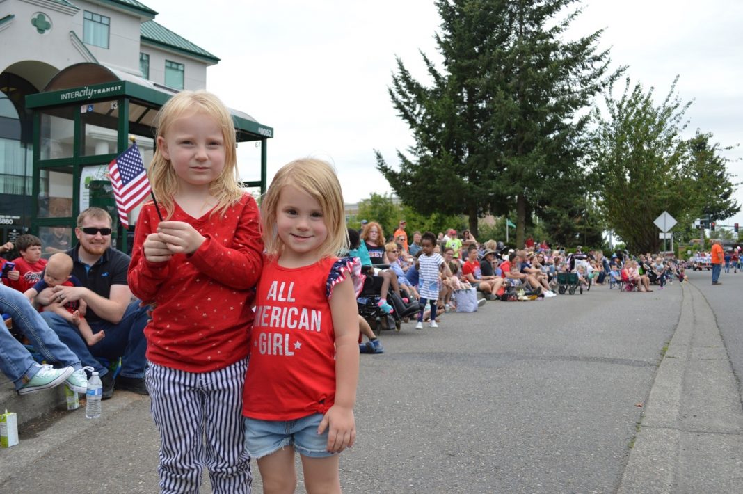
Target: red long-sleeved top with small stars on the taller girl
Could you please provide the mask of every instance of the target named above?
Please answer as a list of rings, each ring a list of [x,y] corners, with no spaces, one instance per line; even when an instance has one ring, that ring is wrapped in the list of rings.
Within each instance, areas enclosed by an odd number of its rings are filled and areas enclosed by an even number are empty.
[[[149,262],[142,244],[160,219],[152,202],[142,208],[127,278],[134,296],[156,304],[144,331],[147,359],[187,372],[227,367],[249,351],[263,252],[258,206],[245,194],[226,212],[196,219],[175,204],[170,219],[207,239],[190,255]]]

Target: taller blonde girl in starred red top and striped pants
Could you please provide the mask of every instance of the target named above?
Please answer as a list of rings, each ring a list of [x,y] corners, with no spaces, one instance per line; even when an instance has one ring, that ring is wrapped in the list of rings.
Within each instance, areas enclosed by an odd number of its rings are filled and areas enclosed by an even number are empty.
[[[163,493],[198,493],[204,467],[215,493],[250,493],[242,387],[263,242],[256,201],[236,180],[235,140],[230,112],[206,91],[160,110],[149,177],[165,221],[157,204],[142,208],[129,287],[155,306],[145,380]]]

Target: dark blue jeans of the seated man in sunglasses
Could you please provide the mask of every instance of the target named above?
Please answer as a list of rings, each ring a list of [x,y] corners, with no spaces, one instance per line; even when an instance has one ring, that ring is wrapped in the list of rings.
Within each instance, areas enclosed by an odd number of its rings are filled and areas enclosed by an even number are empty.
[[[42,317],[59,336],[59,339],[80,357],[82,364],[90,365],[95,371],[98,371],[99,375],[108,374],[108,368],[100,363],[96,357],[103,357],[108,360],[123,357],[121,363],[121,375],[123,377],[144,377],[145,353],[147,351],[144,327],[149,320],[148,308],[140,307],[140,302],[137,300],[129,304],[118,324],[108,321],[91,322],[93,333],[106,331],[106,337],[90,347],[85,343],[85,339],[82,339],[77,328],[62,319],[62,316],[51,312],[42,312]]]

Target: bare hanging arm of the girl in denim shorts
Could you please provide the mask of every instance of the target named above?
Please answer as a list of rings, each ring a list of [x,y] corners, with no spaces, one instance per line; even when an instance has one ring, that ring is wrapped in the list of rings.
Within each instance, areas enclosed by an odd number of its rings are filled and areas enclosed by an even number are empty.
[[[330,299],[335,333],[335,403],[317,429],[328,429],[328,451],[341,452],[356,441],[354,404],[359,380],[359,316],[350,277],[333,287]]]

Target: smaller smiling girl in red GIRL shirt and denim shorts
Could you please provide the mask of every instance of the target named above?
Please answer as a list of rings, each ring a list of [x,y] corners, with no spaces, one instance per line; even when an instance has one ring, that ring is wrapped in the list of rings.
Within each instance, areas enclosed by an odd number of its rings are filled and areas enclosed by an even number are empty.
[[[266,259],[256,293],[244,391],[246,446],[265,493],[340,493],[339,456],[356,438],[356,294],[340,183],[328,163],[296,160],[261,204]]]

